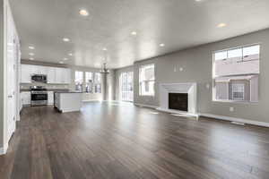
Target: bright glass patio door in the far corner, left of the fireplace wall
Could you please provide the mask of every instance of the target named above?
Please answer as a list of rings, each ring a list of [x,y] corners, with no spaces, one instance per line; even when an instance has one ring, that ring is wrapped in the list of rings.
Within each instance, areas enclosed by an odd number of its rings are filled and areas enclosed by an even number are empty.
[[[120,98],[123,101],[133,101],[133,76],[134,72],[122,72],[119,78]]]

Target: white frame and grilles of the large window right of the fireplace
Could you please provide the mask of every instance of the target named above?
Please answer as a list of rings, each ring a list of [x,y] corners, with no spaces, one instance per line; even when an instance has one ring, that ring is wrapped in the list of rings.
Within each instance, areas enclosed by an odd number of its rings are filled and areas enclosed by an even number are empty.
[[[242,62],[247,62],[247,61],[244,61],[244,57],[245,56],[244,56],[244,53],[243,53],[243,49],[246,48],[246,47],[255,47],[255,46],[259,46],[258,59],[259,59],[259,61],[261,61],[262,43],[254,43],[254,44],[248,44],[248,45],[244,45],[244,46],[230,47],[230,48],[225,48],[225,49],[213,51],[213,53],[212,53],[212,55],[213,55],[213,65],[212,65],[212,68],[213,68],[212,69],[212,72],[213,72],[212,73],[213,92],[212,92],[212,101],[213,102],[223,102],[223,103],[232,103],[232,104],[237,104],[237,103],[239,103],[239,104],[257,104],[258,103],[259,100],[258,101],[251,101],[251,97],[250,97],[250,100],[249,101],[248,100],[247,101],[246,100],[233,100],[233,99],[227,99],[227,100],[225,100],[225,99],[216,99],[216,89],[215,89],[215,86],[216,86],[216,80],[215,79],[216,78],[218,78],[218,77],[224,77],[224,76],[226,76],[226,77],[229,77],[229,76],[230,77],[232,77],[232,76],[240,76],[240,75],[223,75],[223,76],[217,76],[217,75],[215,75],[215,54],[216,53],[219,53],[219,52],[225,52],[225,51],[227,51],[227,58],[226,59],[221,59],[221,60],[227,60],[227,59],[229,59],[228,58],[228,51],[235,50],[235,49],[238,49],[238,48],[242,48],[242,58],[241,58],[241,60],[242,60]],[[259,76],[260,76],[260,64],[259,64],[259,73],[248,73],[248,74],[244,74],[244,75],[241,75],[241,76],[246,76],[246,75],[256,75],[259,78]],[[258,87],[257,88],[260,89],[260,83],[259,82],[258,82]],[[245,91],[245,89],[244,89],[244,91]],[[232,91],[231,91],[231,93],[232,93],[231,95],[233,96],[233,92]],[[257,95],[259,96],[259,94],[257,94]],[[233,98],[233,97],[231,97],[231,98]]]

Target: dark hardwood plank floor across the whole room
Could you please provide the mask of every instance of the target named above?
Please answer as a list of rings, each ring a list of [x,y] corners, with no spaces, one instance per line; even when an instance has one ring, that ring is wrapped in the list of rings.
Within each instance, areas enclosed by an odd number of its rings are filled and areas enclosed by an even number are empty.
[[[26,107],[1,179],[269,178],[269,129],[131,104]]]

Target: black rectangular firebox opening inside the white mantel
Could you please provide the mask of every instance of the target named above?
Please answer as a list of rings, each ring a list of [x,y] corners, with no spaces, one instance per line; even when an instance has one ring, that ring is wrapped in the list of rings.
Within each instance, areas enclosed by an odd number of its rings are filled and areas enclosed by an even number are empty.
[[[169,93],[169,109],[187,110],[187,93]]]

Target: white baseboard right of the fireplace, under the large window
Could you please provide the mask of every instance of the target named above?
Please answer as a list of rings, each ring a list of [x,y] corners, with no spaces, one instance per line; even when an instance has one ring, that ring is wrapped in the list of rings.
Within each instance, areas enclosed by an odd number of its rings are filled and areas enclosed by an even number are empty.
[[[243,119],[243,118],[230,117],[230,116],[224,116],[224,115],[211,115],[211,114],[199,114],[199,115],[204,116],[204,117],[214,118],[214,119],[220,119],[224,121],[231,121],[231,122],[238,122],[238,123],[243,123],[243,124],[252,124],[252,125],[258,125],[258,126],[263,126],[263,127],[269,127],[269,123],[252,121],[252,120]]]

